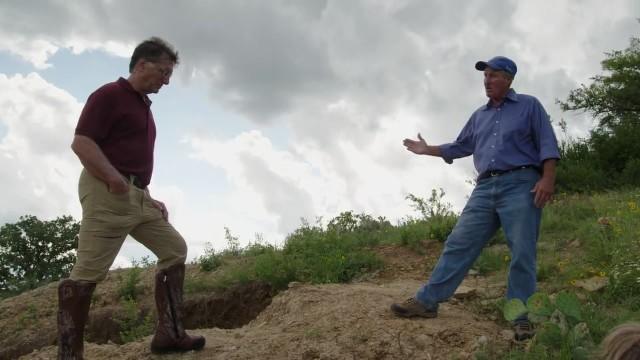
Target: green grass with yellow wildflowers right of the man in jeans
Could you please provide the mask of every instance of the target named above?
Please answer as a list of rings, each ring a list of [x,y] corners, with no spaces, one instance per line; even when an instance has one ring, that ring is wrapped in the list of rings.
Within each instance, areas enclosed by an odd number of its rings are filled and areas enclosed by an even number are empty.
[[[580,295],[590,342],[543,328],[530,346],[504,359],[575,359],[592,354],[614,326],[640,319],[640,191],[561,194],[544,211],[538,252],[541,291]],[[589,293],[577,280],[606,277],[609,285]],[[582,355],[581,355],[582,354]]]

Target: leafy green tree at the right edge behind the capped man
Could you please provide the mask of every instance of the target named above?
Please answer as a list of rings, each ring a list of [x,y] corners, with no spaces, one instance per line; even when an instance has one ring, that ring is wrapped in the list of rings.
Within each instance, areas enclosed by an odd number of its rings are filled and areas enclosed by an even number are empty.
[[[605,74],[558,101],[564,111],[585,111],[598,121],[588,138],[562,144],[561,191],[640,185],[640,38],[607,53],[602,68]]]

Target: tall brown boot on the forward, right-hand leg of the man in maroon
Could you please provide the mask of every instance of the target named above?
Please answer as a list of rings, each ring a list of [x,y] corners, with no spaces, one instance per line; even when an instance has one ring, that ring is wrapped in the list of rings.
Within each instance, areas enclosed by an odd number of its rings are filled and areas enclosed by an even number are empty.
[[[156,306],[158,323],[151,340],[151,352],[200,350],[204,347],[202,336],[190,336],[182,325],[182,285],[184,264],[172,265],[156,274]]]

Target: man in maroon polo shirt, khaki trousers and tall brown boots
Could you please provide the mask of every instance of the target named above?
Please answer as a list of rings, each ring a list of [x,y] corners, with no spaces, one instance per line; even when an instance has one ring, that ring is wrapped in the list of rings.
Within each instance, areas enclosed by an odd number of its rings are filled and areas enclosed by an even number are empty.
[[[201,336],[182,325],[187,245],[151,197],[156,127],[147,94],[169,84],[178,53],[153,37],[138,45],[130,76],[100,87],[82,110],[71,148],[84,166],[78,192],[82,222],[76,264],[58,286],[58,358],[82,359],[91,295],[104,280],[127,235],[158,257],[154,353],[199,350]]]

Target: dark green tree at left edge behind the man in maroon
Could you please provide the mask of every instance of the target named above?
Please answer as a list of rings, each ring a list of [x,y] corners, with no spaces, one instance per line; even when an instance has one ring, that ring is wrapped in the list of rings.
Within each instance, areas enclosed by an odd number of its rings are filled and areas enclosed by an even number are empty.
[[[71,216],[40,221],[26,215],[0,228],[0,292],[15,293],[69,275],[80,223]]]

